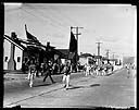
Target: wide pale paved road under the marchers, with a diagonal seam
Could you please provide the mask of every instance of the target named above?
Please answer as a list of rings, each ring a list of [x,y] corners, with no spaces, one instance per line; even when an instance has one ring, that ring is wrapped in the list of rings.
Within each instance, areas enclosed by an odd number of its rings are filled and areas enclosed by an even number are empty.
[[[28,87],[27,82],[18,84],[17,87],[13,85],[11,88],[5,84],[4,106],[21,105],[22,108],[136,106],[136,78],[127,78],[125,70],[117,71],[110,76],[98,77],[86,77],[77,73],[72,75],[72,86],[68,90],[65,90],[60,83],[61,76],[54,85],[49,85],[50,81],[43,84],[41,80],[38,80],[33,88]]]

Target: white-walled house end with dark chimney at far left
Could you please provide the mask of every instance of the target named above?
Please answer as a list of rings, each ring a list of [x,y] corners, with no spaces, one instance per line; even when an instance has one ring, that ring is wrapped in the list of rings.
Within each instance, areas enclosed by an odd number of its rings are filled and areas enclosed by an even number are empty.
[[[7,35],[3,37],[3,70],[21,70],[23,50],[26,47],[18,42],[15,33],[11,33],[11,37]]]

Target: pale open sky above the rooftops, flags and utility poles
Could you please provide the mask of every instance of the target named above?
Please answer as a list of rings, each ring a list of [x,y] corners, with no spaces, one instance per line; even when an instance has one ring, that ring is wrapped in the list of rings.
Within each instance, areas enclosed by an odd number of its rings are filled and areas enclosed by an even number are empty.
[[[78,26],[84,27],[78,29],[78,53],[97,54],[98,41],[102,42],[102,56],[106,49],[110,57],[135,56],[137,51],[137,8],[130,4],[4,4],[5,35],[15,32],[18,38],[26,39],[25,24],[40,42],[50,41],[58,49],[68,48],[71,26]]]

